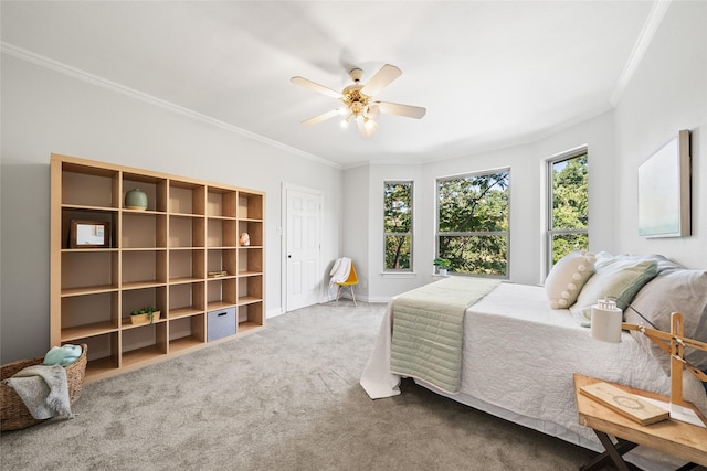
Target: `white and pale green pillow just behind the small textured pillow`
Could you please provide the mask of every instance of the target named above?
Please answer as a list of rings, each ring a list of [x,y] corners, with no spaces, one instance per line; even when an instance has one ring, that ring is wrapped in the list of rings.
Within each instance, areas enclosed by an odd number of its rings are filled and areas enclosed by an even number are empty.
[[[590,318],[591,307],[600,299],[616,301],[616,307],[625,311],[636,293],[658,274],[656,260],[622,259],[620,257],[595,265],[597,271],[587,281],[572,314]]]

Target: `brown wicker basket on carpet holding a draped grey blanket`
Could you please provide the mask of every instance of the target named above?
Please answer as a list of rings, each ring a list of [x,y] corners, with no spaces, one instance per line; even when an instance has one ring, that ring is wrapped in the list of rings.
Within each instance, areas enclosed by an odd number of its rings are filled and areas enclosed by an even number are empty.
[[[82,353],[78,360],[66,366],[66,379],[68,382],[68,398],[73,404],[78,398],[78,393],[84,387],[84,376],[86,374],[86,352],[87,345],[81,345]],[[44,361],[43,356],[32,360],[20,360],[19,362],[2,365],[1,379],[7,379],[21,370],[32,365],[40,365]],[[0,430],[18,430],[30,427],[44,420],[32,417],[24,406],[24,403],[18,396],[14,389],[4,383],[0,383],[0,392],[2,393],[0,402]]]

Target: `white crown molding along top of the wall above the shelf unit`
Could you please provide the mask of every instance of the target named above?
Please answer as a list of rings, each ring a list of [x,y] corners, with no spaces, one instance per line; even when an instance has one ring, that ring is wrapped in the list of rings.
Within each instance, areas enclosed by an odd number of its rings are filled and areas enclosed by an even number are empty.
[[[231,125],[229,122],[222,121],[220,119],[215,119],[212,118],[210,116],[203,115],[201,113],[197,113],[194,110],[191,110],[189,108],[184,108],[182,106],[176,105],[171,101],[167,101],[165,99],[158,98],[156,96],[139,92],[135,88],[130,88],[127,87],[125,85],[122,85],[117,82],[113,82],[109,81],[107,78],[101,77],[98,75],[94,75],[91,74],[86,71],[83,71],[81,68],[76,68],[73,67],[71,65],[64,64],[62,62],[59,61],[54,61],[53,58],[43,56],[41,54],[36,54],[32,51],[28,51],[23,47],[17,46],[14,44],[10,44],[8,42],[4,41],[0,41],[0,49],[2,54],[7,54],[13,57],[17,57],[19,60],[29,62],[31,64],[34,65],[39,65],[40,67],[44,67],[44,68],[49,68],[51,71],[57,72],[60,74],[70,76],[72,78],[76,78],[81,82],[85,82],[88,83],[91,85],[95,85],[105,89],[108,89],[110,92],[134,98],[134,99],[138,99],[140,101],[150,104],[152,106],[157,106],[159,108],[166,109],[168,111],[181,115],[181,116],[186,116],[188,118],[191,119],[196,119],[198,121],[201,122],[205,122],[208,125],[224,129],[229,132],[233,132],[236,133],[239,136],[242,136],[244,138],[247,139],[252,139],[255,141],[258,141],[261,143],[264,143],[266,146],[271,146],[281,150],[284,150],[288,153],[293,153],[299,157],[304,157],[305,159],[309,159],[309,160],[314,160],[317,163],[321,163],[324,165],[328,165],[328,167],[334,167],[336,169],[340,169],[341,165],[336,163],[336,162],[331,162],[330,160],[326,160],[323,159],[318,156],[308,153],[308,152],[304,152],[299,149],[296,149],[294,147],[289,147],[286,146],[282,142],[278,142],[276,140],[266,138],[264,136],[257,135],[255,132],[251,132],[249,130],[245,130],[243,128],[239,128],[238,126]]]

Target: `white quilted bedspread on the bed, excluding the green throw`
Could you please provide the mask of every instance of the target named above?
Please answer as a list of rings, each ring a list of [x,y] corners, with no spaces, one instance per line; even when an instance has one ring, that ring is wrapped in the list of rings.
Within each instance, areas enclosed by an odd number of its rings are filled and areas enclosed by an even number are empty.
[[[630,334],[592,339],[569,310],[550,309],[542,287],[502,283],[466,311],[464,332],[461,393],[445,396],[577,445],[602,449],[579,425],[573,373],[669,394],[669,377]],[[373,399],[400,394],[389,358],[390,308],[360,381]],[[707,410],[690,374],[684,395]]]

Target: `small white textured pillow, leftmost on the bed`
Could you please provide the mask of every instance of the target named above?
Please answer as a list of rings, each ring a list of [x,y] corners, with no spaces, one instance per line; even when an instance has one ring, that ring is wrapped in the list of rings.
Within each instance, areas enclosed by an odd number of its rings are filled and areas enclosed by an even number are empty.
[[[567,309],[577,301],[582,287],[594,274],[594,254],[576,250],[560,258],[545,279],[550,308]]]

